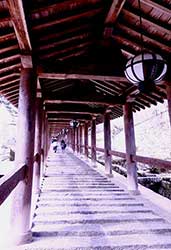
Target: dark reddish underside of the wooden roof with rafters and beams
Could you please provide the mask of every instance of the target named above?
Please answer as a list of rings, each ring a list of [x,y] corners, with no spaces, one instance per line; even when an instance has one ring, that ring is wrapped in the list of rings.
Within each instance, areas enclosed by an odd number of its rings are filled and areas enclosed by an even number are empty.
[[[126,100],[134,111],[163,102],[164,81],[143,94],[123,72],[141,51],[140,32],[144,48],[170,64],[171,2],[141,0],[141,29],[139,16],[137,0],[0,0],[1,93],[18,105],[21,55],[33,55],[52,127],[101,122],[109,108],[117,118]]]

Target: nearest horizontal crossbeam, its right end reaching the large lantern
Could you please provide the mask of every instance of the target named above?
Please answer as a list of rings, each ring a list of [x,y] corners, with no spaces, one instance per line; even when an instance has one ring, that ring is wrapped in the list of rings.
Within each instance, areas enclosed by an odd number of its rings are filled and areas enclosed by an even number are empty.
[[[100,81],[116,81],[128,82],[125,76],[102,76],[102,75],[84,75],[84,74],[62,74],[62,73],[43,73],[38,72],[39,78],[45,79],[80,79],[80,80],[100,80]]]

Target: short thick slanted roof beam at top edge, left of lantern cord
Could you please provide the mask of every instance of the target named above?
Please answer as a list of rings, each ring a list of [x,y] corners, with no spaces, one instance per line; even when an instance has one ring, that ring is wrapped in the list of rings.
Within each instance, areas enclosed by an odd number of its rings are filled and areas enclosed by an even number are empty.
[[[125,2],[126,0],[113,0],[105,24],[114,24],[116,22]]]

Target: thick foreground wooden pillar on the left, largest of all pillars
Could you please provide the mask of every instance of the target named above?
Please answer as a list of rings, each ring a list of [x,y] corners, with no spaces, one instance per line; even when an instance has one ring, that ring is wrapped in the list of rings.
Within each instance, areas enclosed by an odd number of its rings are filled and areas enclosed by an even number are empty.
[[[11,211],[11,235],[13,244],[24,244],[32,240],[30,230],[31,194],[34,158],[34,135],[35,135],[35,99],[36,79],[32,69],[21,70],[16,167],[26,164],[26,177],[17,185],[13,192]]]

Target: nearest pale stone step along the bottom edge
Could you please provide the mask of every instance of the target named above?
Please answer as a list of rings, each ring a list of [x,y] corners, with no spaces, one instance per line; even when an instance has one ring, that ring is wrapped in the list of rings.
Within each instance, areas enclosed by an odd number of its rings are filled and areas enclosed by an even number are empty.
[[[167,243],[166,243],[167,242]],[[31,246],[33,245],[33,247]],[[150,248],[167,249],[171,247],[171,238],[151,234],[130,234],[93,237],[44,237],[30,244],[26,250],[146,250]],[[24,248],[23,248],[24,249]]]

